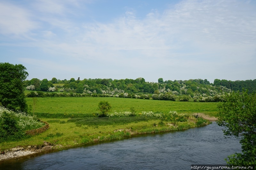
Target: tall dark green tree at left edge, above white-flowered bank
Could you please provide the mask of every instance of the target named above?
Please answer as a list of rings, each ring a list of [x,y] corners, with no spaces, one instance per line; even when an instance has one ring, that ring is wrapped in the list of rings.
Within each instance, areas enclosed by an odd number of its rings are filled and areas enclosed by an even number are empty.
[[[10,110],[27,111],[24,81],[28,72],[21,64],[0,63],[0,103]]]

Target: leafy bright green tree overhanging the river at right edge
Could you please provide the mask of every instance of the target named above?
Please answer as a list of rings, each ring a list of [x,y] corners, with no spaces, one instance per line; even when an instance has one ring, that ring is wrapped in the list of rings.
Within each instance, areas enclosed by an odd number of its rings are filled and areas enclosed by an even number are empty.
[[[218,125],[224,126],[224,135],[240,138],[242,153],[235,153],[226,159],[231,165],[256,165],[256,93],[248,90],[232,92],[218,104]]]

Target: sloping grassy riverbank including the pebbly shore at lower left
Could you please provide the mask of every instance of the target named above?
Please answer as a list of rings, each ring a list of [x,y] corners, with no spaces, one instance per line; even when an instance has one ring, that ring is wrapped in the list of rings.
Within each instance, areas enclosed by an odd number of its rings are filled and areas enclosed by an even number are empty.
[[[204,114],[198,114],[198,116],[204,117],[204,119],[207,120],[204,121],[200,126],[210,124],[209,121],[216,119],[213,117],[207,117]],[[44,119],[44,121],[47,120]],[[63,119],[62,121],[67,122],[66,119]],[[75,123],[50,123],[50,129],[42,134],[33,136],[23,141],[4,143],[5,146],[3,146],[5,149],[2,150],[2,154],[0,154],[0,161],[19,158],[53,149],[63,150],[84,144],[120,140],[137,134],[186,130],[189,128],[198,127],[196,121],[196,118],[189,117],[188,122],[177,122],[176,124],[173,124],[172,122],[163,122],[160,120],[149,120],[147,122],[115,126],[76,126]],[[57,134],[61,135],[57,136]]]

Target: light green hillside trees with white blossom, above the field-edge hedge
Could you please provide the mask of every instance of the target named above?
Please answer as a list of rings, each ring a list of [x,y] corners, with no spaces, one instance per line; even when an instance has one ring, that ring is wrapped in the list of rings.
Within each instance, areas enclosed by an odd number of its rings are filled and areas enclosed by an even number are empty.
[[[56,85],[56,82],[64,82],[61,85]],[[191,97],[203,95],[203,96],[214,96],[220,92],[228,92],[227,88],[223,86],[214,87],[207,81],[207,79],[195,79],[195,80],[168,80],[163,81],[162,78],[158,79],[157,83],[146,82],[144,78],[133,79],[84,79],[75,80],[57,80],[52,78],[51,81],[44,79],[33,78],[30,81],[24,81],[24,85],[28,90],[36,91],[54,91],[60,92],[71,92],[71,93],[97,93],[97,94],[119,94],[119,93],[130,93],[130,94],[161,94],[172,92],[175,95],[190,95]],[[51,89],[56,86],[56,89]]]

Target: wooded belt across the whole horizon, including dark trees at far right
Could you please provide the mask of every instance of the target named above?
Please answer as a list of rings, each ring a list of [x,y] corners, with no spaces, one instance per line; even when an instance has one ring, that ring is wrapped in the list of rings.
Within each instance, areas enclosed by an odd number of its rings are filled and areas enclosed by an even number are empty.
[[[36,93],[28,94],[28,97],[39,96],[40,91],[43,92],[61,92],[70,93],[73,96],[83,94],[82,96],[98,96],[98,97],[128,97],[128,98],[150,98],[161,100],[172,100],[173,95],[175,98],[179,97],[182,101],[183,98],[194,98],[195,101],[204,99],[208,96],[218,96],[225,92],[240,91],[247,89],[249,93],[256,90],[256,79],[245,81],[228,81],[215,79],[210,83],[207,79],[189,79],[189,80],[167,80],[159,78],[158,82],[146,82],[144,78],[133,79],[84,79],[80,80],[71,78],[70,80],[39,80],[33,78],[31,80],[23,81],[24,87],[27,90],[37,91]],[[68,94],[68,95],[70,95]],[[169,98],[164,97],[169,94]],[[158,96],[157,96],[158,95]],[[170,97],[170,95],[172,97]],[[49,95],[48,95],[49,96]],[[52,96],[54,96],[52,94]],[[57,95],[55,95],[57,96]],[[59,94],[59,96],[67,96]],[[142,97],[141,97],[142,96]],[[187,101],[188,99],[185,99]],[[211,100],[210,100],[211,101]],[[218,101],[218,100],[217,100]]]

